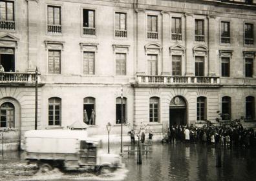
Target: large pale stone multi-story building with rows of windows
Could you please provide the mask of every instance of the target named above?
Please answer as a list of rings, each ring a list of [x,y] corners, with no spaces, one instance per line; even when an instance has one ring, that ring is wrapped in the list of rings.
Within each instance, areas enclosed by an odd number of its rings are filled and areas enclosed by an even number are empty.
[[[256,1],[0,1],[1,129],[255,120]],[[0,69],[1,71],[1,69]],[[3,71],[3,70],[2,70]]]

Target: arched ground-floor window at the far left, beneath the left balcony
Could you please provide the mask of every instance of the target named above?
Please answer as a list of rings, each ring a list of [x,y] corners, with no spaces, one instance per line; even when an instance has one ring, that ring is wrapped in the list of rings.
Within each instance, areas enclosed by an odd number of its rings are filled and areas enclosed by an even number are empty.
[[[0,107],[0,128],[14,128],[14,104],[5,102]]]

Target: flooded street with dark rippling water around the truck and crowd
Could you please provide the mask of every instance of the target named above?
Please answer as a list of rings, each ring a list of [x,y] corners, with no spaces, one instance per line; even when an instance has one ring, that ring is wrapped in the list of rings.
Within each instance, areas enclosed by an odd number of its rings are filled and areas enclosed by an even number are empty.
[[[104,146],[105,148],[105,146]],[[125,148],[123,148],[125,150]],[[152,152],[142,158],[137,165],[136,154],[123,157],[125,169],[119,169],[108,176],[96,176],[92,173],[61,173],[54,171],[50,175],[17,175],[14,180],[255,180],[255,149],[222,149],[222,167],[216,167],[216,152],[213,146],[201,144],[153,144]],[[118,153],[119,145],[111,145],[111,152]],[[13,154],[13,155],[12,155]],[[5,164],[16,162],[19,154],[6,154]],[[7,160],[8,159],[8,160]],[[22,158],[21,158],[22,160]],[[3,165],[3,161],[1,164]],[[23,162],[24,163],[24,162]],[[25,165],[25,164],[24,164]],[[22,166],[19,165],[19,166]],[[1,168],[1,175],[5,170]],[[15,172],[5,174],[15,175]],[[30,173],[31,174],[31,173]],[[8,177],[6,177],[8,178]],[[4,180],[4,178],[0,179]]]

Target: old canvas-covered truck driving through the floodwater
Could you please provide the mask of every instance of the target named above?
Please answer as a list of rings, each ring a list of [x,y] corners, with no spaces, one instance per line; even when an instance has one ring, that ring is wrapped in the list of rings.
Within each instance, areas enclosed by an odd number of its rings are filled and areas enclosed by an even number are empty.
[[[25,160],[37,164],[41,172],[58,167],[109,173],[122,166],[120,155],[103,154],[101,145],[97,138],[88,137],[87,131],[26,131]]]

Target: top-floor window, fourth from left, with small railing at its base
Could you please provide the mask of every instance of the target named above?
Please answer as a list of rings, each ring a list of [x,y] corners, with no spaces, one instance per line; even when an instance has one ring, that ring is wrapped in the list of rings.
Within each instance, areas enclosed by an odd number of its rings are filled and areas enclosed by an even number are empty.
[[[127,37],[127,31],[126,31],[126,14],[116,12],[114,14],[114,35],[116,37]]]

